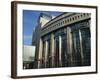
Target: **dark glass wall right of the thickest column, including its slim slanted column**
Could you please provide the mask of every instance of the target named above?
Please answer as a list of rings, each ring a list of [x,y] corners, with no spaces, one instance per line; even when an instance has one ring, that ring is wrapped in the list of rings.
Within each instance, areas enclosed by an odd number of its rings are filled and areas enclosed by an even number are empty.
[[[80,39],[81,38],[81,39]],[[90,28],[82,28],[72,32],[73,66],[89,66],[91,64]]]

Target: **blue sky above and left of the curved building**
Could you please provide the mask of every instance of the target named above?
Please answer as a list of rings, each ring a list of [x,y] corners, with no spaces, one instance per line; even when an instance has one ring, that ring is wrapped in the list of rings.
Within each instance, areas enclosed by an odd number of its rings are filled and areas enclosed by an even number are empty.
[[[32,11],[23,10],[23,40],[24,45],[32,43],[32,34],[37,25],[40,13],[46,13],[54,16],[62,14],[62,12]]]

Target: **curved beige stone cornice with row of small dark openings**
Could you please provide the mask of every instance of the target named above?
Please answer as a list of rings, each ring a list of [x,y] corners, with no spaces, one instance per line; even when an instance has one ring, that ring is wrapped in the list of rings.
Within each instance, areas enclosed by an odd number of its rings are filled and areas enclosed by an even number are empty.
[[[91,14],[89,13],[77,13],[73,14],[71,16],[68,16],[68,14],[61,15],[52,21],[48,22],[48,24],[45,25],[44,28],[41,28],[41,36],[46,35],[47,33],[50,33],[56,29],[62,28],[64,26],[68,26],[71,24],[74,24],[79,21],[83,21],[86,19],[89,19],[91,17]],[[52,23],[52,24],[50,24]]]

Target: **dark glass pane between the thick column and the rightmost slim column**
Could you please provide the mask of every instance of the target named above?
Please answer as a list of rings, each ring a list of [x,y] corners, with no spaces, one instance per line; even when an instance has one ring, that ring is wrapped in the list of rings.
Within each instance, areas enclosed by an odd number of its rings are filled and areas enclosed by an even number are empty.
[[[81,65],[81,47],[80,47],[80,36],[79,30],[72,33],[73,37],[73,66]]]

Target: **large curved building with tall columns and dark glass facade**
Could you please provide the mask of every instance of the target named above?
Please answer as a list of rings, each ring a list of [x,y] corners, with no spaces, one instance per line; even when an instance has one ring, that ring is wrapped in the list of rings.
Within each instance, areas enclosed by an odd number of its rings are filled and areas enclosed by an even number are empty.
[[[91,14],[41,14],[33,33],[35,68],[91,65]]]

